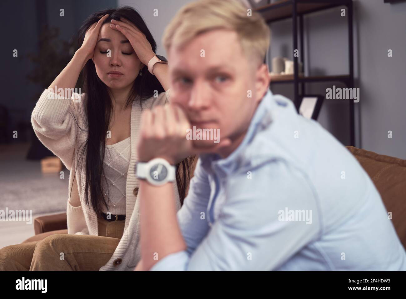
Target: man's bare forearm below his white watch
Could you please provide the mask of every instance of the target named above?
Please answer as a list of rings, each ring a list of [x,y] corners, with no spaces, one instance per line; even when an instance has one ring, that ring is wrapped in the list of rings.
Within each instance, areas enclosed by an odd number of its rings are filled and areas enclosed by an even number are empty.
[[[140,180],[141,256],[149,270],[165,256],[186,249],[176,218],[173,184],[152,186]]]

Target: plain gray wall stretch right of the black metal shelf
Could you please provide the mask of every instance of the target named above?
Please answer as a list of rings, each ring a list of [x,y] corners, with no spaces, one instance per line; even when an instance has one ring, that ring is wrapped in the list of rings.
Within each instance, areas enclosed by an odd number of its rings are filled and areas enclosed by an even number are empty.
[[[361,144],[406,159],[406,2],[358,1]],[[388,49],[393,57],[387,56]],[[388,130],[393,139],[387,138]]]

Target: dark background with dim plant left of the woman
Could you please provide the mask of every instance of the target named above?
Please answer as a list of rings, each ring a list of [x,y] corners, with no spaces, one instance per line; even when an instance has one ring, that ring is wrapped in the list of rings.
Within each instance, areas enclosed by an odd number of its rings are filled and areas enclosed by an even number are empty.
[[[5,0],[2,34],[0,143],[32,142],[28,158],[52,153],[32,130],[32,109],[78,48],[76,33],[91,13],[117,7],[116,0]],[[64,9],[64,16],[60,16]],[[16,49],[17,57],[13,57]],[[18,138],[13,138],[16,130]]]

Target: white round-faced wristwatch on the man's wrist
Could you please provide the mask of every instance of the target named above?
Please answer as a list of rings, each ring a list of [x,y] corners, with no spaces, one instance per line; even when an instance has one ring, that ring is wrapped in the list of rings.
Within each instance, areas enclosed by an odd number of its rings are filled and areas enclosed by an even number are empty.
[[[137,177],[147,180],[150,184],[160,186],[175,181],[176,167],[163,158],[155,158],[144,163],[137,163]]]

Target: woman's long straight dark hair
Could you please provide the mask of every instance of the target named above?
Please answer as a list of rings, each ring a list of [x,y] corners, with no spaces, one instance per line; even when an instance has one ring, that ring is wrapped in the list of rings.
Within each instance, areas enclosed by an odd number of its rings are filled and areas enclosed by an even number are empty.
[[[122,17],[132,22],[151,44],[153,52],[156,51],[156,43],[147,28],[141,15],[130,6],[123,6],[118,9],[106,9],[91,14],[82,24],[79,29],[79,44],[83,43],[86,30],[95,22],[99,17],[109,14],[108,18],[103,24],[110,22],[110,20],[120,20]],[[112,101],[108,92],[108,87],[99,79],[96,74],[96,69],[93,61],[89,59],[82,70],[83,75],[83,89],[84,96],[84,109],[87,115],[87,130],[88,136],[86,141],[80,146],[82,147],[81,158],[82,161],[80,168],[83,164],[83,156],[86,155],[85,160],[85,177],[86,183],[84,186],[84,202],[86,205],[93,207],[96,215],[102,213],[102,207],[108,207],[108,197],[104,195],[104,154],[106,145],[106,132],[109,130],[108,126],[112,117]],[[137,76],[132,89],[128,95],[125,107],[132,104],[134,100],[140,102],[142,108],[143,100],[153,96],[154,91],[163,92],[164,89],[158,79],[149,73],[147,66],[142,69],[143,76]],[[78,121],[75,119],[76,124]],[[78,124],[79,126],[79,124]],[[82,128],[80,128],[83,130]],[[78,151],[79,152],[79,151]],[[181,204],[183,204],[188,182],[190,180],[190,163],[193,161],[188,158],[177,164],[176,179],[179,191]],[[106,182],[106,186],[108,186]],[[134,195],[136,190],[133,191]]]

